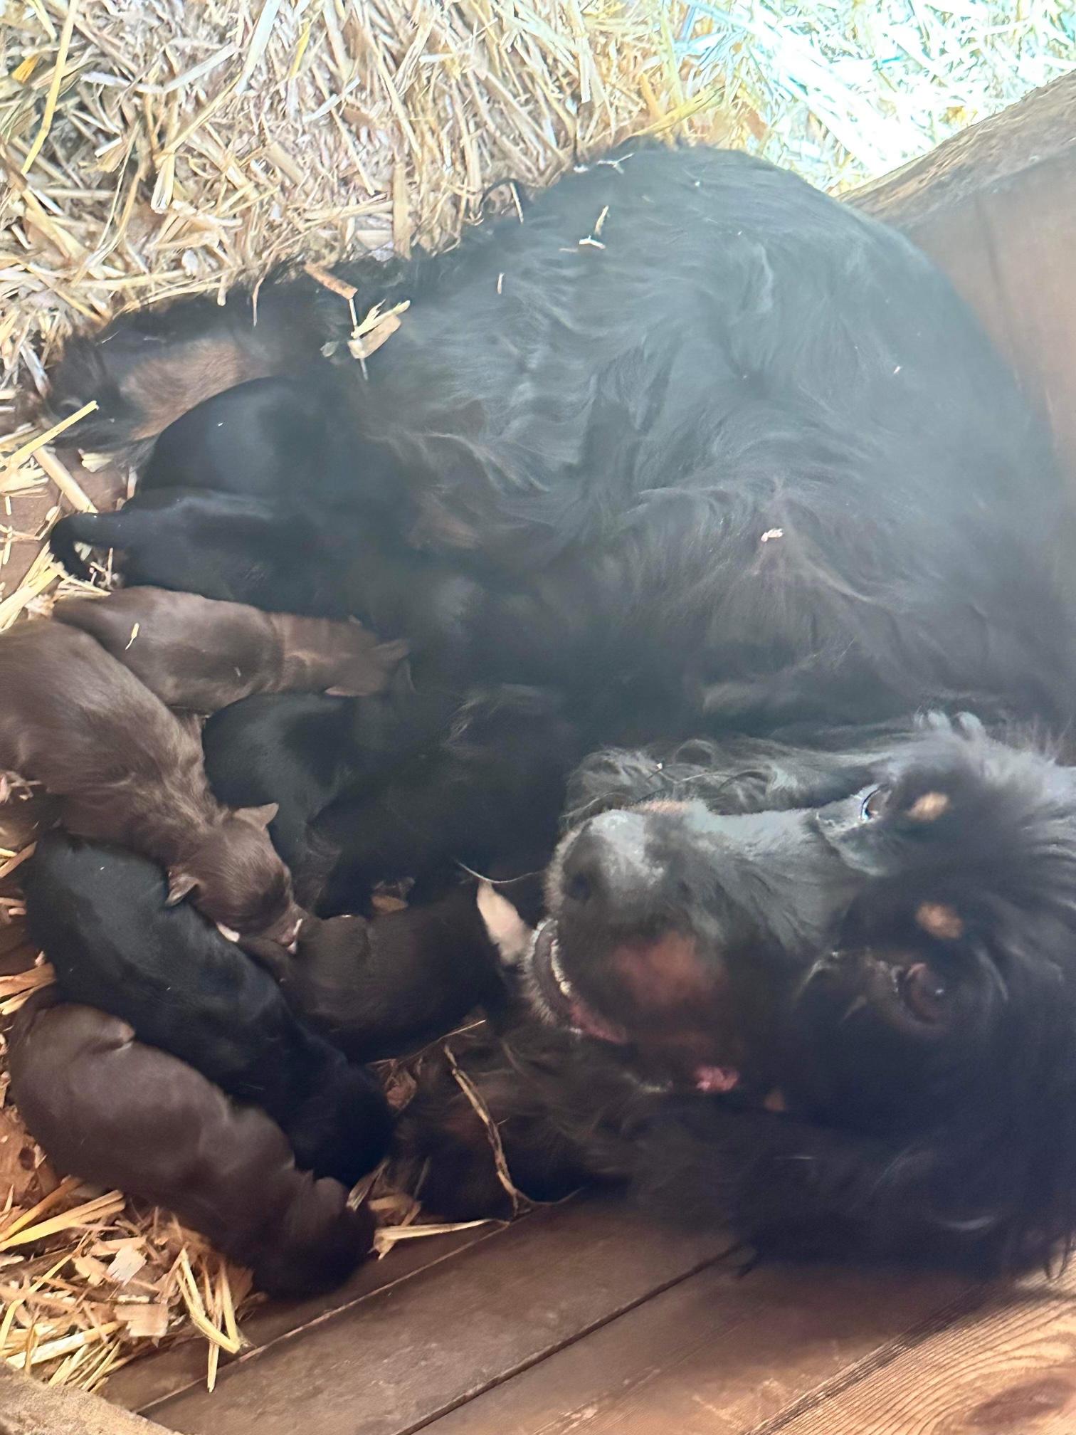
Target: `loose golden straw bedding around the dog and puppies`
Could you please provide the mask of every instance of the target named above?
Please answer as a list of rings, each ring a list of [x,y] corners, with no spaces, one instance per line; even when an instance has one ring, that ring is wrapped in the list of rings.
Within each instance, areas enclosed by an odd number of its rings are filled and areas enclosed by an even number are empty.
[[[224,301],[291,257],[452,243],[514,202],[486,195],[498,181],[547,182],[636,133],[752,148],[846,188],[1072,67],[1076,32],[1063,0],[1016,19],[984,0],[0,0],[0,52],[3,630],[88,590],[42,541],[62,511],[129,488],[57,458],[36,419],[72,327],[166,296]],[[89,587],[108,584],[103,568]],[[3,1027],[50,980],[17,887],[40,801],[0,775],[0,1358],[96,1389],[201,1336],[212,1383],[241,1346],[247,1274],[165,1213],[60,1180],[3,1105]],[[439,1228],[373,1201],[382,1254]]]

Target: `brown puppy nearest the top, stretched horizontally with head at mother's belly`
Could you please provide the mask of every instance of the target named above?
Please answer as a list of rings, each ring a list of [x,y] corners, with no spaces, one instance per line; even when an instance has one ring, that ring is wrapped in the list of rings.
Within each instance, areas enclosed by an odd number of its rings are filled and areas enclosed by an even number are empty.
[[[67,598],[53,617],[90,633],[166,703],[215,713],[254,693],[379,693],[406,643],[379,643],[357,623],[263,613],[194,593],[123,588]]]

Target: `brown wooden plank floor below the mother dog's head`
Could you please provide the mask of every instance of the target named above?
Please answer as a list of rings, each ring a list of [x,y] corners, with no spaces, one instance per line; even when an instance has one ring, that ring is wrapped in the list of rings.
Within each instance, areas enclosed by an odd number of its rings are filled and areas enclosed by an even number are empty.
[[[267,1307],[212,1395],[194,1347],[106,1395],[185,1435],[1076,1432],[1076,1280],[740,1276],[725,1248],[577,1201]]]

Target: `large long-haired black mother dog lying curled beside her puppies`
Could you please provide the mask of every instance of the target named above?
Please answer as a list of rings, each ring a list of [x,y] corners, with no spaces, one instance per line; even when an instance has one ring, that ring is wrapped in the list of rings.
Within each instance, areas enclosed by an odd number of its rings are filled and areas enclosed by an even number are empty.
[[[1072,518],[1049,443],[904,238],[745,155],[633,149],[522,225],[346,274],[360,306],[412,304],[340,390],[354,531],[386,512],[396,531],[351,550],[334,601],[410,639],[419,682],[439,663],[459,686],[558,689],[587,748],[801,725],[786,746],[584,768],[584,806],[689,806],[568,838],[549,897],[577,990],[558,1015],[588,1036],[498,1056],[515,1079],[494,1115],[560,1142],[547,1185],[627,1177],[763,1244],[1043,1260],[1076,1230],[1070,778],[974,732],[862,728],[925,705],[1070,722]],[[290,306],[304,352],[350,326],[303,283],[258,303]],[[192,313],[139,320],[162,352],[175,327],[179,370]],[[72,350],[63,402],[108,408],[108,383],[80,386],[88,354],[108,370],[132,323]],[[250,336],[222,327],[205,319],[218,369],[255,377]],[[287,376],[271,333],[258,373]],[[156,432],[131,375],[118,441]],[[839,725],[859,730],[826,745]],[[516,811],[558,784],[534,769]],[[892,794],[859,824],[871,784]],[[399,841],[377,794],[318,821],[357,844],[360,884],[445,851],[455,808],[423,809],[417,786]],[[935,798],[920,817],[912,792]],[[555,1006],[551,931],[534,960]],[[456,1102],[449,1149],[471,1122]]]

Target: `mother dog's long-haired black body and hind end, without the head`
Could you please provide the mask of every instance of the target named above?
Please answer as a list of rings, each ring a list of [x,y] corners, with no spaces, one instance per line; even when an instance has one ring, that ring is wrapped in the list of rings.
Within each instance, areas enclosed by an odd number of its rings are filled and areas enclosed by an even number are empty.
[[[951,699],[1067,719],[1052,555],[1069,521],[1047,443],[900,235],[746,155],[633,144],[539,195],[522,225],[344,277],[412,300],[364,379],[337,350],[354,370],[336,423],[356,518],[379,494],[399,540],[459,574],[450,603],[448,577],[416,583],[406,564],[395,588],[382,574],[350,601],[458,683],[554,682],[605,742]],[[118,443],[152,430],[135,331],[158,387],[171,356],[182,392],[192,336],[232,383],[291,376],[296,353],[350,327],[341,300],[317,296],[308,280],[261,287],[255,360],[242,300],[123,316],[72,346],[55,402],[99,399]],[[275,604],[265,588],[254,601]]]

